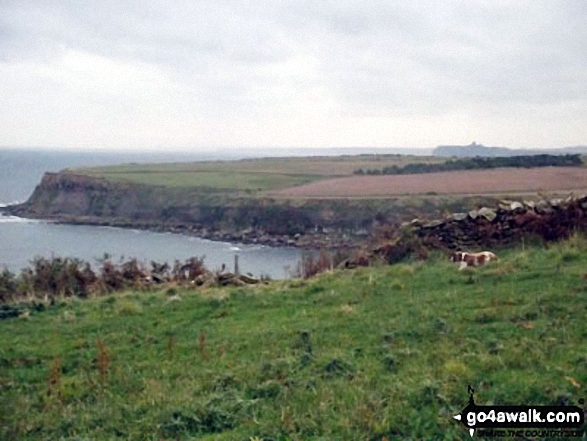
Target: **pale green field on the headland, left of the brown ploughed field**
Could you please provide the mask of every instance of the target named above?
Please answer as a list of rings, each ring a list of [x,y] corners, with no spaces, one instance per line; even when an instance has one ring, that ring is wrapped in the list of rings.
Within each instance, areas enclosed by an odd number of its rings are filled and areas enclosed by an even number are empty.
[[[359,168],[382,168],[412,162],[445,160],[400,155],[292,157],[176,164],[124,164],[74,171],[113,182],[212,190],[263,191],[288,188],[332,177],[351,176]]]

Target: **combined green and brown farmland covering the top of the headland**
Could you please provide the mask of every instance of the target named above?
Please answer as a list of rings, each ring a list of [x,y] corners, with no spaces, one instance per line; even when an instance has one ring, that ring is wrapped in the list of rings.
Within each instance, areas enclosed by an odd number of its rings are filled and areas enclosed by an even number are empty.
[[[124,164],[73,171],[115,183],[277,198],[491,195],[587,189],[587,168],[584,167],[502,168],[382,176],[353,174],[358,169],[445,160],[422,156],[359,155]]]

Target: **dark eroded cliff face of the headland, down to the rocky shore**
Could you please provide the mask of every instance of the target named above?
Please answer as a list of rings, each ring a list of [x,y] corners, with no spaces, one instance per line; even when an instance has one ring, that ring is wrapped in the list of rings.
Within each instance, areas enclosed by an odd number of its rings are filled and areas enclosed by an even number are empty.
[[[456,208],[412,199],[284,200],[198,188],[114,183],[69,171],[46,173],[10,214],[65,223],[171,231],[203,238],[304,248],[352,246],[373,228]],[[462,201],[458,204],[462,204]],[[453,205],[453,206],[451,206]]]

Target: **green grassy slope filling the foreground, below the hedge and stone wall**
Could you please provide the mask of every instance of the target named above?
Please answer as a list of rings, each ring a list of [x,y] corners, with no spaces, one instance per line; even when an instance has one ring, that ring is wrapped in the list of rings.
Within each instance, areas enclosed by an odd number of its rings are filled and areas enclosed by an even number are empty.
[[[576,403],[587,242],[500,254],[470,274],[437,257],[0,322],[0,438],[470,439],[451,418],[467,384],[479,404]]]

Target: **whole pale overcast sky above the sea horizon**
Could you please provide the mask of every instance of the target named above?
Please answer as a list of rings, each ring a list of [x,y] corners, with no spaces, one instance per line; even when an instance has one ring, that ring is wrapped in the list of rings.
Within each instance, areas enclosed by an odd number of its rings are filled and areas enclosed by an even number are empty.
[[[585,0],[0,0],[0,145],[587,144]]]

